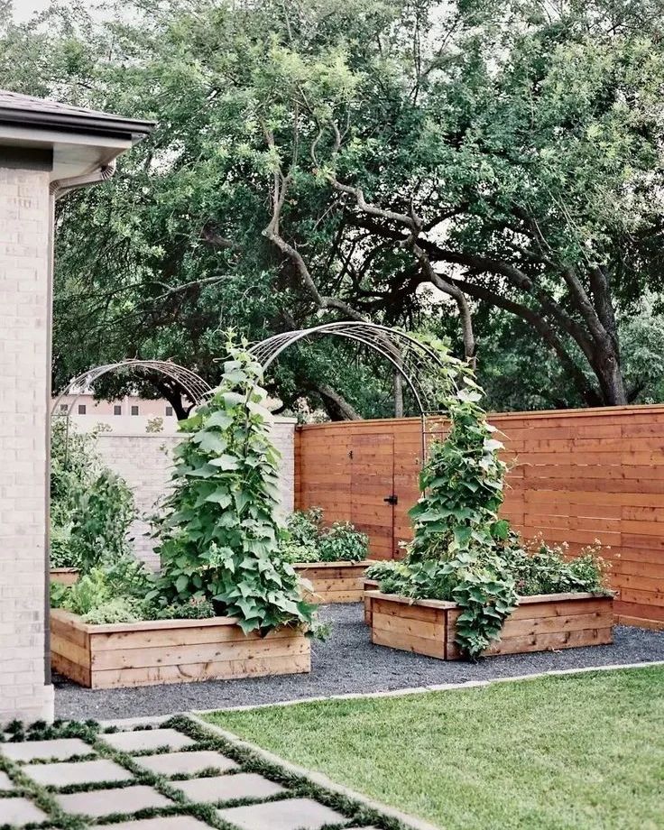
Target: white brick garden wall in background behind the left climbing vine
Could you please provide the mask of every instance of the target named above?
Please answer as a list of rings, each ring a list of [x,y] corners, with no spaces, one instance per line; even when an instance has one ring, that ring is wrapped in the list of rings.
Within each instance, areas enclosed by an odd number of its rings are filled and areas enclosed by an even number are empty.
[[[295,421],[276,419],[274,443],[281,451],[280,491],[281,509],[293,509]],[[137,555],[150,567],[159,567],[153,550],[153,540],[147,535],[149,524],[145,516],[154,511],[154,505],[167,493],[171,478],[171,457],[179,436],[161,434],[119,435],[102,432],[97,438],[99,453],[106,464],[121,475],[134,493],[139,515],[131,533]]]

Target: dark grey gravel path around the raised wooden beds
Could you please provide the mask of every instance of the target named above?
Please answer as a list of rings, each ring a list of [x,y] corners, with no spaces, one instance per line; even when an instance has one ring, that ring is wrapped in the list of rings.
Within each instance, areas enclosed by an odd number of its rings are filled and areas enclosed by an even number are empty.
[[[326,642],[314,642],[309,675],[97,690],[56,677],[56,715],[102,719],[170,715],[300,697],[507,678],[550,669],[664,660],[664,632],[617,626],[613,645],[492,657],[475,665],[445,662],[372,645],[361,604],[329,605],[321,616],[334,623],[332,636]]]

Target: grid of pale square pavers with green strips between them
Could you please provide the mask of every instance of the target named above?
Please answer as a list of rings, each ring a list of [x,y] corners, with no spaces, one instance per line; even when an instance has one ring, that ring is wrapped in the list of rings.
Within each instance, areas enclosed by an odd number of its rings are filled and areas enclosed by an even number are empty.
[[[115,732],[65,726],[81,737],[51,740],[7,734],[0,742],[0,828],[47,827],[70,816],[99,830],[377,830],[383,824],[370,810],[375,826],[368,826],[364,805],[266,765],[187,718],[173,723],[178,728],[142,724]],[[392,819],[385,826],[397,825]]]

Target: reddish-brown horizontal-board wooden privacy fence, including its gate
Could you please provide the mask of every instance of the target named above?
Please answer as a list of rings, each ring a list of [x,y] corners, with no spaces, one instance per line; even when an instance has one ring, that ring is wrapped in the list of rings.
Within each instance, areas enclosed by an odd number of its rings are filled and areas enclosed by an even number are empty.
[[[495,414],[508,475],[503,514],[530,538],[610,549],[621,622],[664,629],[664,405]],[[430,429],[430,428],[429,428]],[[438,434],[445,434],[440,422]],[[419,419],[300,427],[295,505],[353,521],[374,558],[400,556],[418,498]]]

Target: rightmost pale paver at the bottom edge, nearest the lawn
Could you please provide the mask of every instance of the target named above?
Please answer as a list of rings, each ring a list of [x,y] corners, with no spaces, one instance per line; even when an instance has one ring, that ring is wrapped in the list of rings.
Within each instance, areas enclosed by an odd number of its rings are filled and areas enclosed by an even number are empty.
[[[341,825],[348,821],[346,816],[311,798],[231,807],[217,810],[217,816],[242,830],[320,830],[325,825]]]

